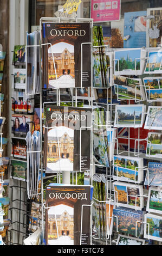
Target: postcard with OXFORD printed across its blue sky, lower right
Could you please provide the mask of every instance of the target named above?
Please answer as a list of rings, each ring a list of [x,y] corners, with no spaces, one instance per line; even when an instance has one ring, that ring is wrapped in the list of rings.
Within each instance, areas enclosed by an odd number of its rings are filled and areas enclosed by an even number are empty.
[[[117,207],[113,209],[113,230],[119,231],[120,233],[125,233],[135,236],[135,228],[137,223],[137,235],[141,233],[141,224],[143,211],[132,211],[129,208]],[[118,226],[117,221],[118,220]]]

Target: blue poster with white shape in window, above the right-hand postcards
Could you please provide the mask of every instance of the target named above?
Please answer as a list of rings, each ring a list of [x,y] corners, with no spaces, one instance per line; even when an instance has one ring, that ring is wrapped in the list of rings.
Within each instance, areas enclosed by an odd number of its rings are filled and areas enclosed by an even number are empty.
[[[146,11],[124,14],[124,48],[146,47]]]

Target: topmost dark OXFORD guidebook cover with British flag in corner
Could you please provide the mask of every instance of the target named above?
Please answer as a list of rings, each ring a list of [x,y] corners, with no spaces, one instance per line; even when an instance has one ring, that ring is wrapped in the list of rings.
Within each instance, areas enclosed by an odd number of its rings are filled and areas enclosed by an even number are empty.
[[[81,44],[91,42],[90,23],[44,23],[43,42],[51,44],[43,49],[44,88],[81,87]],[[90,44],[84,44],[82,87],[91,86],[90,59]]]

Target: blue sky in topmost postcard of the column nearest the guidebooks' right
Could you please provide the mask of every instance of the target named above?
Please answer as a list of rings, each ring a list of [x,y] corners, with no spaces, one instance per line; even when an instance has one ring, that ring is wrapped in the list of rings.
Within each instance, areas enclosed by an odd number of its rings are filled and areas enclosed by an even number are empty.
[[[140,58],[141,57],[141,50],[126,50],[126,51],[118,51],[115,52],[115,59],[121,59],[122,57],[125,58],[125,60],[127,59],[127,56],[129,55],[129,58],[131,57],[132,60],[134,60],[135,58]],[[140,61],[140,59],[137,59],[137,62]]]

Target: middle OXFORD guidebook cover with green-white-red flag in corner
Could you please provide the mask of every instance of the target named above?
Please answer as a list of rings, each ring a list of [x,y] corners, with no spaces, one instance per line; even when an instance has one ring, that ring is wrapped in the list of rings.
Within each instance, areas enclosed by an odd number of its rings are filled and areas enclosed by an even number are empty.
[[[91,108],[46,106],[46,173],[90,168],[91,117]]]

